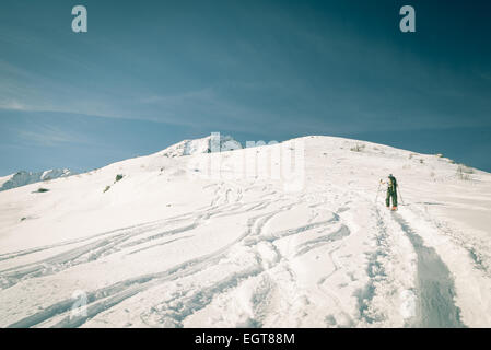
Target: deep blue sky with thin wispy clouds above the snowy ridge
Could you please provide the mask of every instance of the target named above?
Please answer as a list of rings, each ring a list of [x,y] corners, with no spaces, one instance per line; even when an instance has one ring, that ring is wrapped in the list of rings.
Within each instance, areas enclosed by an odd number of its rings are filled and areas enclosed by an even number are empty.
[[[89,32],[71,31],[83,4]],[[417,33],[399,31],[411,4]],[[3,0],[0,175],[212,131],[329,135],[491,172],[489,1]]]

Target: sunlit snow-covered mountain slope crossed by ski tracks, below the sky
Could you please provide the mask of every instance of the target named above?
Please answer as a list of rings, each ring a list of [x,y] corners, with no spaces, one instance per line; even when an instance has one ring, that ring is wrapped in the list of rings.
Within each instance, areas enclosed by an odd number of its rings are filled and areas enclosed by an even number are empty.
[[[491,326],[491,174],[342,138],[203,143],[1,192],[0,326]]]

